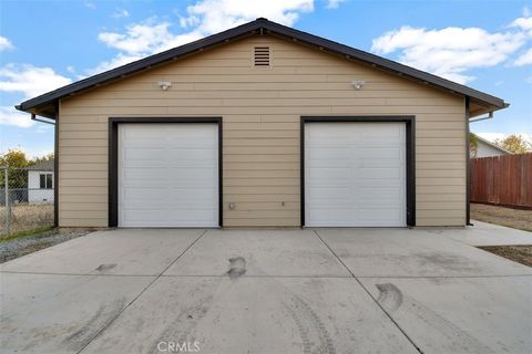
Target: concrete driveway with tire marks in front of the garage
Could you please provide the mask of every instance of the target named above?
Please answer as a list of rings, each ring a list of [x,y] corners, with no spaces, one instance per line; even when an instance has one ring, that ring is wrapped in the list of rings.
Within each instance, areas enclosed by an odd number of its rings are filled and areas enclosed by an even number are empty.
[[[1,353],[530,353],[532,269],[468,229],[113,230],[2,264]],[[508,232],[508,233],[504,233]]]

